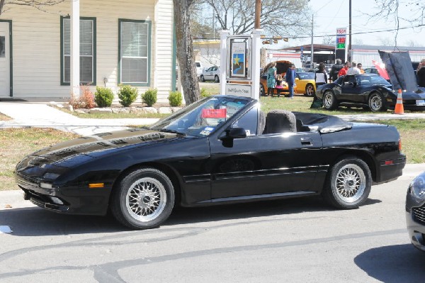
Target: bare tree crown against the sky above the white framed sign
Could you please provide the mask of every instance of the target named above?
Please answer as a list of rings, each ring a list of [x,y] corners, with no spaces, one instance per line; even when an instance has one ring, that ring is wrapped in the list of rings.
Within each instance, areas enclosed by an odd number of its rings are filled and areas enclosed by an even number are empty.
[[[269,35],[299,35],[310,28],[309,0],[263,0],[261,28]],[[234,34],[254,28],[255,0],[203,0],[212,8],[217,26]]]

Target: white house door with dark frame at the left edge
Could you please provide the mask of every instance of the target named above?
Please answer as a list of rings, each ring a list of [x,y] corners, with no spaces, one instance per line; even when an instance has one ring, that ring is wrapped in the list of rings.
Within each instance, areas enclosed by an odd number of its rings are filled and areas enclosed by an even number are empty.
[[[9,23],[0,22],[0,97],[11,94]]]

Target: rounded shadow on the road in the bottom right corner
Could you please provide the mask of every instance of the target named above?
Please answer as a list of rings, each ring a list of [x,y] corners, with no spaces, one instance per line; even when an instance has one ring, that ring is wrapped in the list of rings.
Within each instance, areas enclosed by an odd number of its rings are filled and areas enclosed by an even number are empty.
[[[425,253],[410,244],[373,248],[354,262],[380,282],[425,282]]]

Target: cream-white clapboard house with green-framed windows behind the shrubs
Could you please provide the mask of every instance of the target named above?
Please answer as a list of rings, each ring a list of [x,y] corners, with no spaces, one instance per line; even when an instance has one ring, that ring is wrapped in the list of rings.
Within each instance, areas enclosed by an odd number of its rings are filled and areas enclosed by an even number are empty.
[[[157,88],[158,102],[168,103],[176,86],[172,0],[65,0],[45,11],[5,8],[0,99],[69,98],[72,82],[79,82],[91,91],[106,86],[115,93],[119,84],[140,93]],[[79,18],[79,40],[72,39],[72,18]]]

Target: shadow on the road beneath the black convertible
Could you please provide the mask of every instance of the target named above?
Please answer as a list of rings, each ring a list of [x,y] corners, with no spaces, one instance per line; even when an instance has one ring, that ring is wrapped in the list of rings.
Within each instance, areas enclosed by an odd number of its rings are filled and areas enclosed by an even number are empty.
[[[368,199],[365,205],[380,201]],[[174,225],[224,221],[232,219],[256,218],[299,214],[308,211],[333,211],[319,197],[257,201],[245,204],[208,206],[196,208],[178,207],[173,210],[163,227]],[[271,219],[272,221],[273,219]],[[250,220],[254,221],[254,220]],[[264,221],[264,219],[262,220]],[[115,221],[111,214],[107,216],[76,216],[39,207],[6,209],[1,211],[0,225],[11,226],[15,236],[72,235],[82,233],[113,233],[129,231]]]

